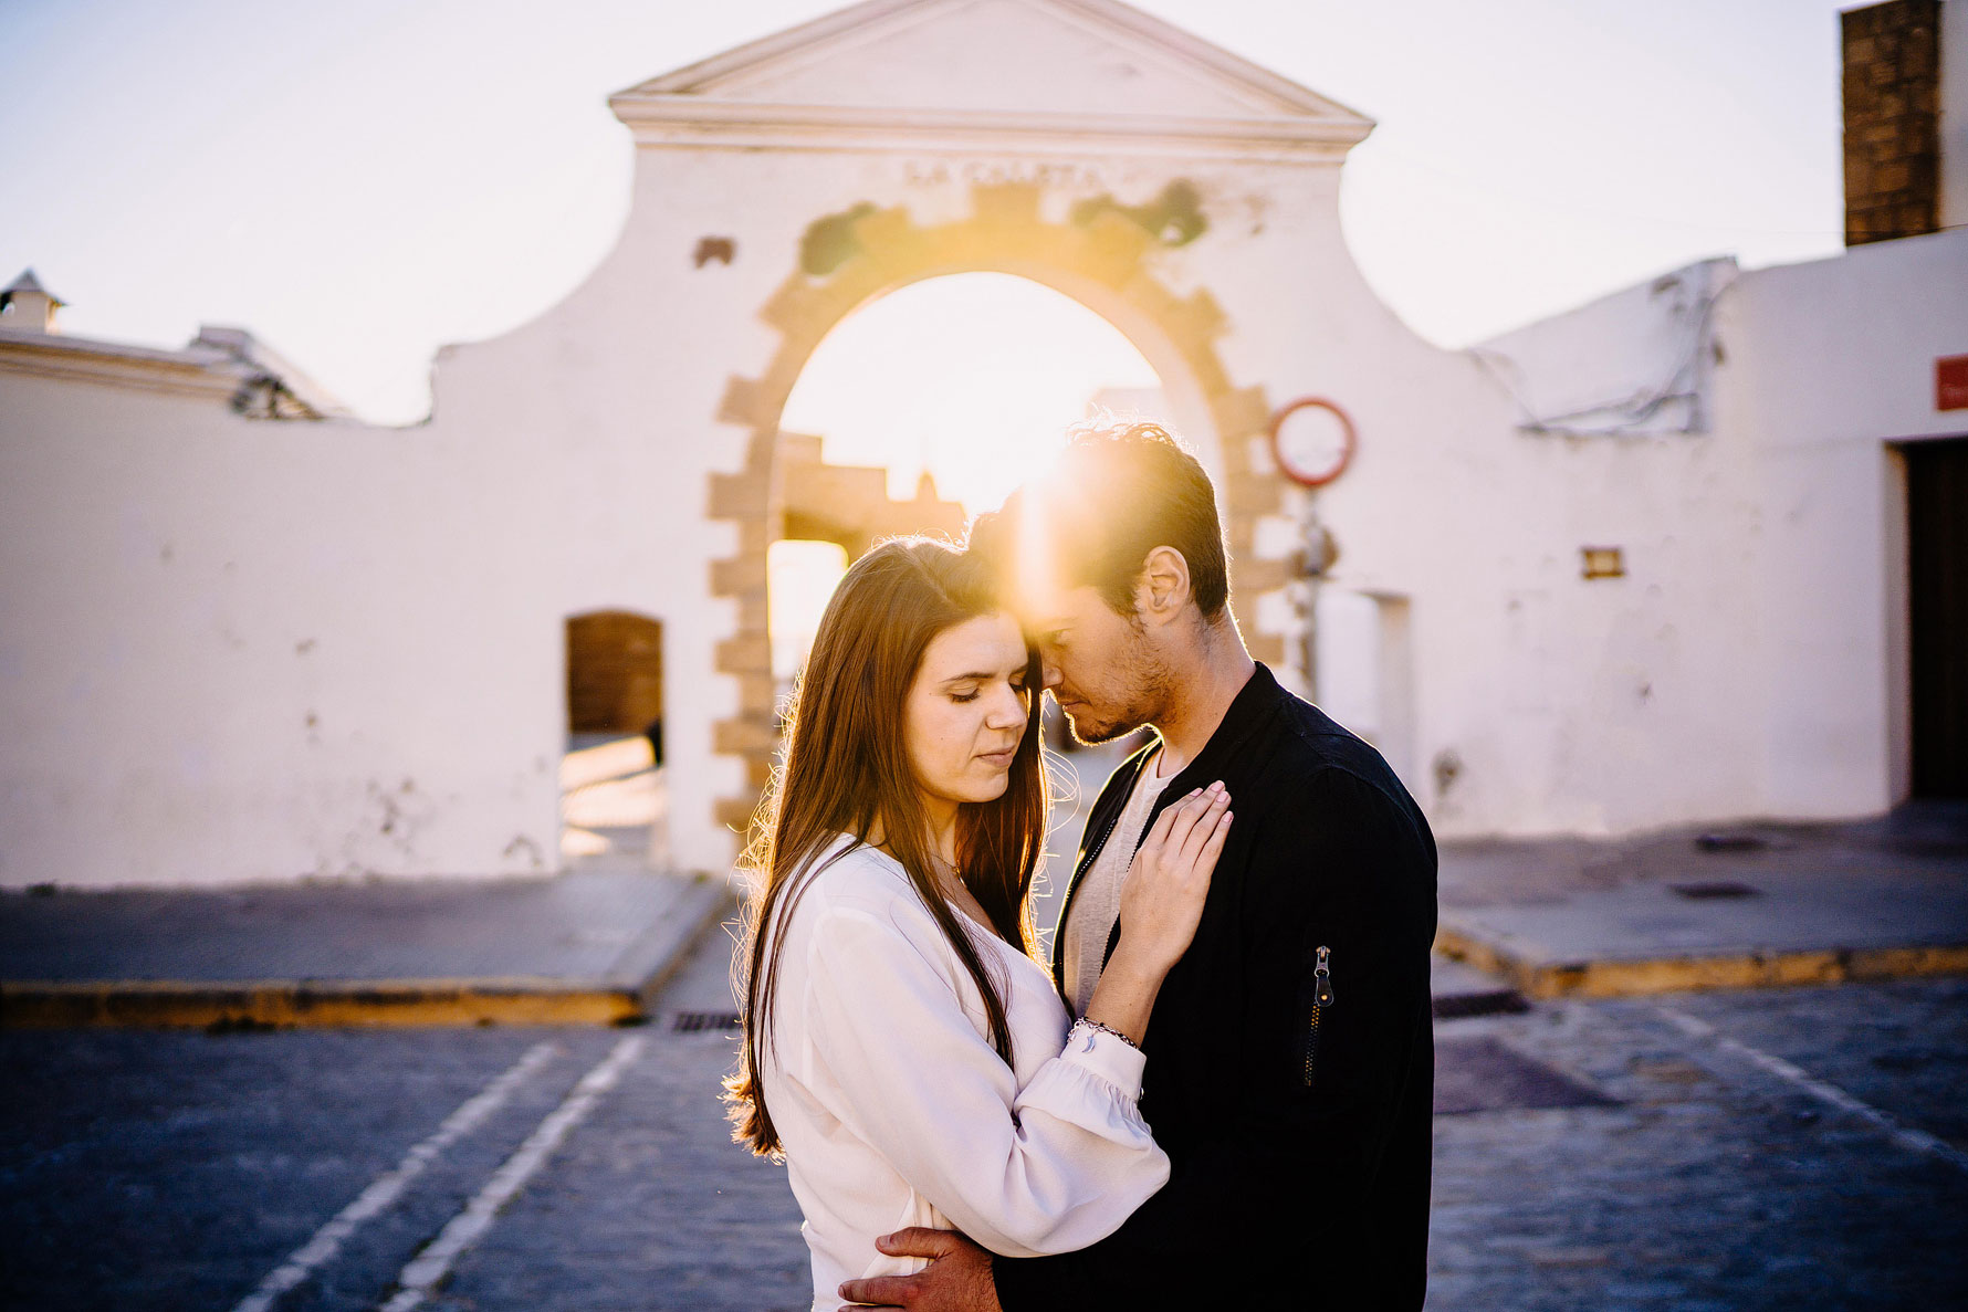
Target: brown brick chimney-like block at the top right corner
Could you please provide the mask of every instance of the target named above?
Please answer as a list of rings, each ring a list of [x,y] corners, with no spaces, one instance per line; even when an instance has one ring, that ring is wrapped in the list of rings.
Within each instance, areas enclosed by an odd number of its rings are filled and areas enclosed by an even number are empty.
[[[1968,0],[1956,0],[1968,4]],[[1846,246],[1940,228],[1940,0],[1838,16]]]

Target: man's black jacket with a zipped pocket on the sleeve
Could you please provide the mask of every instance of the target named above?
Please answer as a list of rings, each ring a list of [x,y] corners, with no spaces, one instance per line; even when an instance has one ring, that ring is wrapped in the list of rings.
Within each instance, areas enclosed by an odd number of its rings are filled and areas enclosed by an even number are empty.
[[[1145,755],[1094,803],[1075,883],[1104,842],[1139,844],[1108,830]],[[1258,1306],[1279,1281],[1332,1312],[1421,1306],[1435,838],[1380,753],[1263,665],[1155,814],[1214,779],[1236,818],[1141,1044],[1169,1184],[1090,1249],[994,1259],[1006,1312]]]

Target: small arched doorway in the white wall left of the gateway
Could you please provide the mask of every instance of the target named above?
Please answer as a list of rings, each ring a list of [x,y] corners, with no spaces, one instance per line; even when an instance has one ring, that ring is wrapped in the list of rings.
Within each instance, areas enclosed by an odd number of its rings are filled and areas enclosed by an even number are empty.
[[[663,624],[630,610],[573,616],[567,633],[563,865],[663,865]]]

